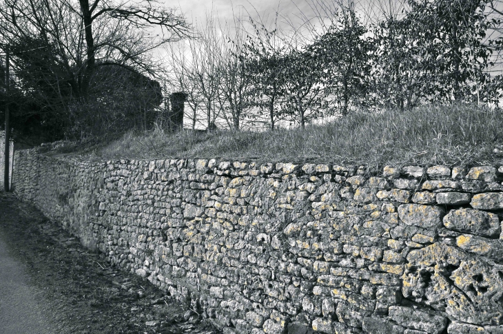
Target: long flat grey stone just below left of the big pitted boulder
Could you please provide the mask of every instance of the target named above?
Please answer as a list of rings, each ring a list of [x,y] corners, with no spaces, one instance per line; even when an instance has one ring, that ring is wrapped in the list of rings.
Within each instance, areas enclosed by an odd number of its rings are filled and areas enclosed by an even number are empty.
[[[433,334],[441,333],[447,324],[445,317],[405,306],[390,306],[389,317],[402,326]]]

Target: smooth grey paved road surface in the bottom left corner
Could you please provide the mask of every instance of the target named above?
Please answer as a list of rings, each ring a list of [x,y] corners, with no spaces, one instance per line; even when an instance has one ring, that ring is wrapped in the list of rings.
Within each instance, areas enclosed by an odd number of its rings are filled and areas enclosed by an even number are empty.
[[[0,233],[0,334],[58,333],[42,291],[30,286],[24,265],[12,256],[3,238]]]

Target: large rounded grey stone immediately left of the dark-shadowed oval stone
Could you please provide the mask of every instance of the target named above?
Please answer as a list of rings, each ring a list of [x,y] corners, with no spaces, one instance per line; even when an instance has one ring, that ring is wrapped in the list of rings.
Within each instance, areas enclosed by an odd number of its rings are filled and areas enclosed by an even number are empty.
[[[429,207],[427,205],[405,204],[398,207],[400,220],[407,225],[422,227],[440,227],[444,211],[440,207]]]

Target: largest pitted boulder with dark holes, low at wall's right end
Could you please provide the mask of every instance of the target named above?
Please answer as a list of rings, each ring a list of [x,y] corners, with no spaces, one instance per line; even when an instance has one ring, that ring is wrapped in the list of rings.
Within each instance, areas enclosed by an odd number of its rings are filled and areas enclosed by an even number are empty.
[[[435,309],[445,309],[453,320],[472,324],[500,324],[503,294],[500,271],[475,260],[456,247],[437,242],[407,255],[402,293]]]

